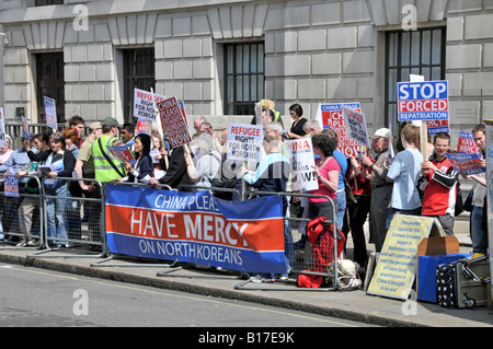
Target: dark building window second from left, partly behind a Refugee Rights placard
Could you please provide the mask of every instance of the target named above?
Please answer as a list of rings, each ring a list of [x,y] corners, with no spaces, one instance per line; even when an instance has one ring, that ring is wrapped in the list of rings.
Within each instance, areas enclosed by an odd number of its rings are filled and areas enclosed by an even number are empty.
[[[135,124],[134,90],[154,90],[154,49],[139,48],[124,50],[124,119]]]

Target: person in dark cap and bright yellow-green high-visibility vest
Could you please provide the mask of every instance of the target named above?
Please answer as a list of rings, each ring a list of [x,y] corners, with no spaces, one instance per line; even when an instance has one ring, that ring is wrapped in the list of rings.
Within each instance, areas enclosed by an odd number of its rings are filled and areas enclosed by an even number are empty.
[[[101,183],[116,181],[125,177],[125,164],[116,159],[107,147],[114,146],[118,141],[118,130],[122,125],[113,117],[103,120],[103,135],[94,141],[91,147],[91,154],[94,161],[94,177]]]

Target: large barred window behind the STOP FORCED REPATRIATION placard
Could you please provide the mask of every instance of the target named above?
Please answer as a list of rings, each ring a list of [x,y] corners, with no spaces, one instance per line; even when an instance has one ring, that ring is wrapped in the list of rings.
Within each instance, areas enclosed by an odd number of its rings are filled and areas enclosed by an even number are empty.
[[[409,81],[410,74],[445,80],[445,27],[388,32],[386,47],[386,126],[395,135],[397,83]]]

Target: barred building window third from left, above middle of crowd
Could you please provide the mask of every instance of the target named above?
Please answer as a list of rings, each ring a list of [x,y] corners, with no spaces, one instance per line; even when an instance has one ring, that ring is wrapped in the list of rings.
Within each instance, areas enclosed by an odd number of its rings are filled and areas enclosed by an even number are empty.
[[[254,115],[264,97],[264,44],[227,44],[225,114]]]

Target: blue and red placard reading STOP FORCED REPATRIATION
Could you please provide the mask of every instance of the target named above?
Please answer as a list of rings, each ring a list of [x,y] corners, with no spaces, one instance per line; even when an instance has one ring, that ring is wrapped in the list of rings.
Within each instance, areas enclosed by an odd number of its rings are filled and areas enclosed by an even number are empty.
[[[448,119],[448,81],[398,82],[398,119]]]

